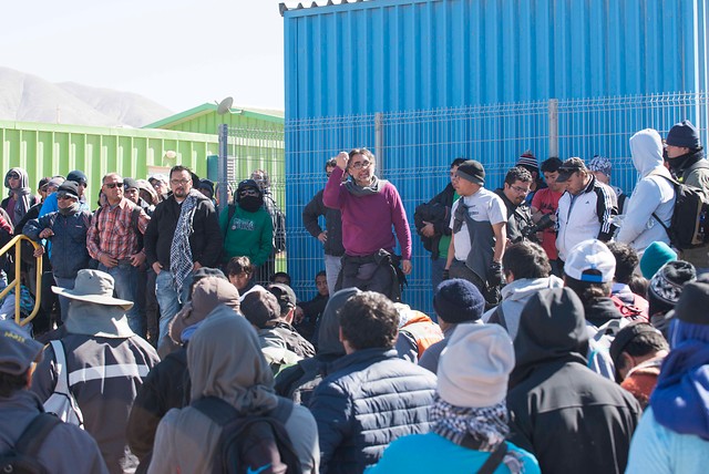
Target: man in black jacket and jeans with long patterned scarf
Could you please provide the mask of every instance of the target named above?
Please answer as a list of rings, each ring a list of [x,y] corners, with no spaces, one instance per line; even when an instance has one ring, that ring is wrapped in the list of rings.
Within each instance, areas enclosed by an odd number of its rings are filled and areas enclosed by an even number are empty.
[[[147,262],[157,275],[158,349],[167,343],[169,322],[188,299],[193,271],[217,266],[222,254],[224,239],[216,210],[205,195],[193,189],[192,176],[186,166],[172,167],[173,194],[155,207],[145,231]]]

